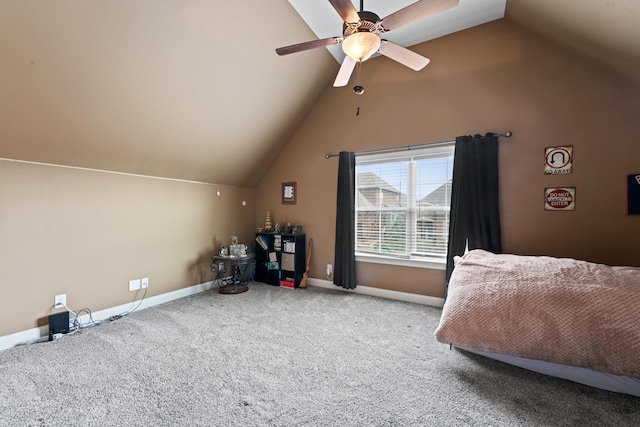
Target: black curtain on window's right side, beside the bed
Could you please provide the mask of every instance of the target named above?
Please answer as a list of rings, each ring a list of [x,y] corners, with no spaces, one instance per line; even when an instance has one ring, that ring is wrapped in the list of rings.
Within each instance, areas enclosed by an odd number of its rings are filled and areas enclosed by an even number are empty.
[[[451,183],[447,286],[454,256],[464,254],[466,247],[501,253],[501,240],[498,137],[459,136]]]

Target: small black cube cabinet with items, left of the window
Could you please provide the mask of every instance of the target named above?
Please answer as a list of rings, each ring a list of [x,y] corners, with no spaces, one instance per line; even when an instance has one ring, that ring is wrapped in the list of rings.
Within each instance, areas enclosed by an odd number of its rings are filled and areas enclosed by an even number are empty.
[[[304,234],[256,233],[257,282],[279,286],[293,282],[297,288],[306,267]]]

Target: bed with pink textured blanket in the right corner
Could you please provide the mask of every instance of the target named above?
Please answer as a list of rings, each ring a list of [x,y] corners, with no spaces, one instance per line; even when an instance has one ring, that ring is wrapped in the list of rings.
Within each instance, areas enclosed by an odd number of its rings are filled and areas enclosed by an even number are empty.
[[[455,258],[435,337],[640,396],[640,268],[469,251]]]

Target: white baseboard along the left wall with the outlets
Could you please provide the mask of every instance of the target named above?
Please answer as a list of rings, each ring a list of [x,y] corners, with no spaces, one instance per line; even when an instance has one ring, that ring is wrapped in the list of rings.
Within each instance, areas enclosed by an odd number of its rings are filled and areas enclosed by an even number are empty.
[[[165,302],[173,301],[178,298],[184,298],[189,295],[206,291],[208,289],[211,289],[212,284],[213,282],[205,282],[199,285],[189,286],[188,288],[178,289],[176,291],[171,291],[171,292],[156,295],[153,297],[148,297],[142,300],[141,303],[138,300],[128,304],[122,304],[116,307],[106,308],[104,310],[93,312],[92,318],[94,321],[98,322],[101,320],[106,320],[111,316],[117,316],[119,314],[129,312],[134,308],[136,310],[143,310],[145,308],[153,307],[159,304],[164,304]],[[140,304],[139,307],[137,307],[138,304]],[[89,315],[88,314],[81,315],[79,321],[82,324],[88,323],[90,321]],[[45,338],[48,339],[48,337],[49,337],[48,325],[41,326],[38,328],[28,329],[26,331],[16,332],[15,334],[1,336],[0,351],[6,350],[11,347],[15,347],[16,345],[19,345],[19,344],[29,344],[29,343],[42,341]]]

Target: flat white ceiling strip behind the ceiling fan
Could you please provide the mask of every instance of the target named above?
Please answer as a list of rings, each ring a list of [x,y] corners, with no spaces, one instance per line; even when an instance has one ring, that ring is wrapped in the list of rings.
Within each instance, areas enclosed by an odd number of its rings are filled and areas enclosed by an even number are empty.
[[[356,10],[360,1],[351,0]],[[328,0],[289,0],[319,39],[342,36],[342,18]],[[364,10],[384,18],[416,0],[364,0]],[[504,17],[507,0],[460,0],[458,6],[385,33],[384,38],[409,47]],[[291,40],[290,44],[308,40]],[[344,59],[340,45],[327,47],[339,63]]]

